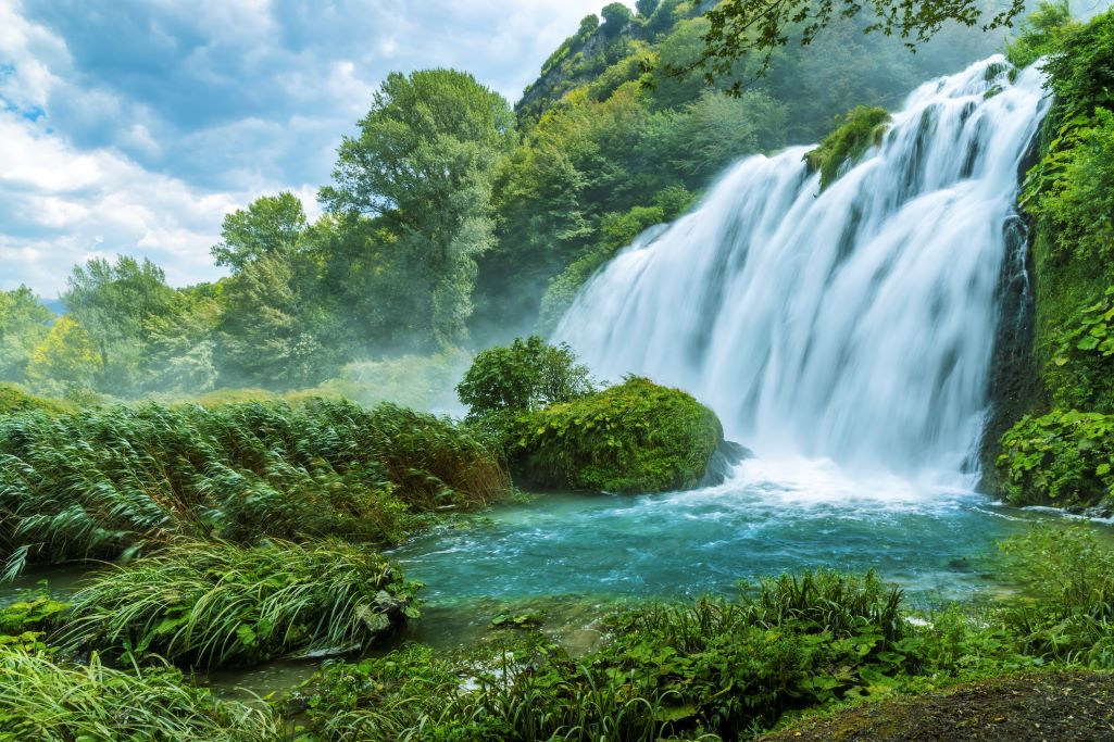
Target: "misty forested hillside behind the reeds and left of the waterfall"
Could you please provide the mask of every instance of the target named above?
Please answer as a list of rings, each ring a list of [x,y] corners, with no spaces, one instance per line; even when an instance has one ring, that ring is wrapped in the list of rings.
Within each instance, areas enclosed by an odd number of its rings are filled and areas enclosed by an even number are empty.
[[[359,396],[419,354],[427,385],[448,388],[459,349],[548,332],[599,265],[734,159],[818,140],[844,111],[893,106],[1003,42],[957,26],[913,55],[840,19],[775,50],[764,75],[744,59],[710,86],[694,67],[705,11],[587,16],[514,109],[465,71],[389,76],[338,152],[320,218],[290,193],[228,214],[212,254],[229,275],[213,284],[172,287],[129,256],[76,266],[60,321],[28,289],[4,293],[0,380],[77,401],[328,380]]]

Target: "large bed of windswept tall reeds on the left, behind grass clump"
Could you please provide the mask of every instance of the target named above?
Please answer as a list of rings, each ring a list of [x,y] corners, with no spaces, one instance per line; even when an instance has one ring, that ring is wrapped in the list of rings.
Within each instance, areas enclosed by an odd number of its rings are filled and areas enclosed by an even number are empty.
[[[395,543],[407,516],[509,491],[450,422],[343,401],[113,407],[0,418],[0,553],[111,558],[175,537]]]

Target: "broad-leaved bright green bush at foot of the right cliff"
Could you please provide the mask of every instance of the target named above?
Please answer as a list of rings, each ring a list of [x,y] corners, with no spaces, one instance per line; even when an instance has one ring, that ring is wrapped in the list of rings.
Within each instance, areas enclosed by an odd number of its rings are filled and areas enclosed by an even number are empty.
[[[1023,418],[998,459],[1014,505],[1114,506],[1114,417],[1075,410]]]

